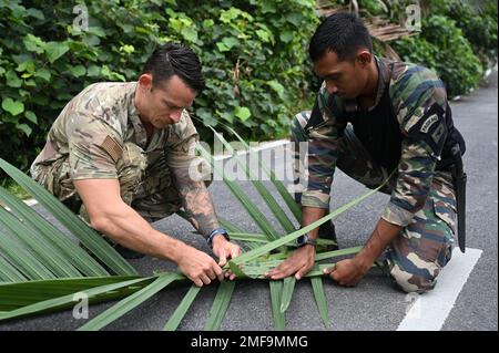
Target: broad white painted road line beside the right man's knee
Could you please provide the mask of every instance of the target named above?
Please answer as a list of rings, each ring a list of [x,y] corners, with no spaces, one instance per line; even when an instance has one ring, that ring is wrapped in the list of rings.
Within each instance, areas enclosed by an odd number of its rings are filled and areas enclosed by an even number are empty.
[[[470,248],[461,253],[456,247],[449,264],[437,278],[437,287],[418,295],[397,331],[439,331],[481,253],[482,250]]]

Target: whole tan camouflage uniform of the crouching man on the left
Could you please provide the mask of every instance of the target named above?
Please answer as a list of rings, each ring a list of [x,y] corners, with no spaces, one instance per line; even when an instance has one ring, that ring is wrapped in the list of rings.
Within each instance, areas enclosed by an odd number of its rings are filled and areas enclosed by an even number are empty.
[[[95,83],[73,97],[33,162],[32,177],[67,205],[81,205],[73,180],[111,178],[119,179],[123,201],[146,220],[177,211],[182,200],[171,168],[200,163],[197,132],[184,111],[179,123],[154,129],[147,143],[135,87],[136,82]],[[80,214],[89,221],[84,205]]]

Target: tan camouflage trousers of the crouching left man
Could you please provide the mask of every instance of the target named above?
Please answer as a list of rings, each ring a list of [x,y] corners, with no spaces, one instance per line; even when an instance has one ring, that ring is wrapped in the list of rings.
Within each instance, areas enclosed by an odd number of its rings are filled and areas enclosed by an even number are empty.
[[[71,180],[68,158],[38,168],[33,175],[34,179],[89,221],[85,207]],[[121,198],[147,221],[167,217],[182,207],[164,156],[147,165],[143,149],[135,144],[125,143],[122,157],[116,163],[116,170]]]

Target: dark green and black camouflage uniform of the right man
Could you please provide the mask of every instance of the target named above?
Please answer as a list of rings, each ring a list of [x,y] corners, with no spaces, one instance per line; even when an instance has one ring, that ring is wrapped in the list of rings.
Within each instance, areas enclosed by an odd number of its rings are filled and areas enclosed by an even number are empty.
[[[446,91],[444,83],[428,69],[383,58],[375,56],[375,60],[379,80],[371,108],[379,105],[383,96],[391,103],[397,128],[401,132],[398,135],[403,136],[397,163],[387,167],[374,158],[353,124],[348,124],[352,123],[347,117],[349,113],[360,111],[356,103],[332,96],[323,84],[315,112],[297,114],[292,128],[295,173],[307,181],[302,186],[301,203],[328,208],[336,166],[369,188],[379,186],[397,169],[381,189],[390,195],[381,217],[404,229],[386,249],[384,258],[399,288],[406,292],[424,292],[435,287],[437,276],[450,260],[456,231],[452,178],[449,172],[436,170],[446,133],[438,126],[441,122],[428,120],[426,114],[435,103],[446,108]],[[314,113],[319,118],[309,124]],[[426,124],[421,125],[424,120]],[[430,133],[431,136],[425,135]],[[305,159],[299,158],[301,142],[308,143]],[[383,142],[374,141],[371,146],[376,143]]]

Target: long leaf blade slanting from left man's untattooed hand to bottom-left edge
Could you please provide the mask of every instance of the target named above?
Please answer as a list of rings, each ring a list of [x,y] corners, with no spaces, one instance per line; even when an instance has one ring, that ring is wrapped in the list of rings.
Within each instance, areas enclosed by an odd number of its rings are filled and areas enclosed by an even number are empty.
[[[111,322],[123,316],[125,313],[132,309],[139,307],[144,301],[150,299],[152,295],[164,289],[166,285],[172,283],[174,280],[184,278],[181,273],[169,273],[157,277],[154,282],[147,287],[141,289],[140,291],[133,293],[132,295],[123,299],[118,304],[111,307],[103,313],[99,314],[96,318],[90,320],[84,325],[82,325],[78,331],[96,331],[109,325]]]

